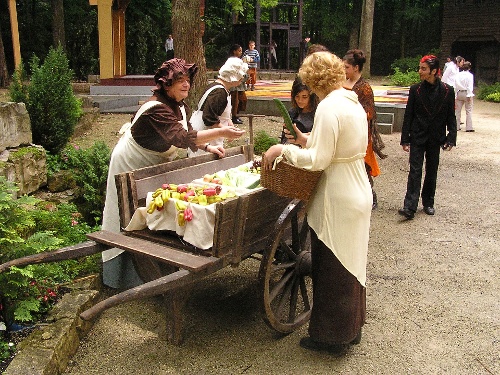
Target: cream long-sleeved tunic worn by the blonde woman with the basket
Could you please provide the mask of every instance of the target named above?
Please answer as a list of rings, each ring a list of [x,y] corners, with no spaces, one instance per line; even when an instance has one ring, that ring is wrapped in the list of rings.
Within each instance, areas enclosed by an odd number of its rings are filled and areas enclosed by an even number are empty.
[[[366,113],[357,95],[342,88],[319,103],[306,148],[285,145],[282,153],[294,165],[324,171],[308,203],[307,221],[363,286],[372,206],[367,144]]]

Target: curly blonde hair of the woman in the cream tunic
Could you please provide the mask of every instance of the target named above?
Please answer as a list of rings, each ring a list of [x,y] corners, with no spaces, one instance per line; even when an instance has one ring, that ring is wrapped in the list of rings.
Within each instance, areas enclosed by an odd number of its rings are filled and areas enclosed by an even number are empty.
[[[345,81],[344,62],[331,52],[314,52],[304,59],[299,76],[312,91],[329,94]]]

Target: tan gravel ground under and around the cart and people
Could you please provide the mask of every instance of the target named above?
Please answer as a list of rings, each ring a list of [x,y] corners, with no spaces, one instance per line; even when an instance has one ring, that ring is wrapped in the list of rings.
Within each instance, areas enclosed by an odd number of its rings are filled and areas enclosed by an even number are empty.
[[[128,115],[103,115],[83,138],[116,142]],[[299,347],[307,327],[278,336],[261,319],[259,264],[244,261],[196,284],[182,346],[163,338],[158,299],[104,312],[66,374],[500,374],[500,104],[476,101],[475,133],[443,152],[436,215],[402,221],[408,173],[400,134],[375,180],[367,322],[345,357]],[[265,118],[255,129],[280,131]]]

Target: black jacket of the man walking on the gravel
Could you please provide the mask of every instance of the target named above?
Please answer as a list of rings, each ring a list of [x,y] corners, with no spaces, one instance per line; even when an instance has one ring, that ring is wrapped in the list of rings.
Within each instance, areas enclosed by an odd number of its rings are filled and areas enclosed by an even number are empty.
[[[401,145],[428,142],[453,146],[457,142],[455,92],[440,79],[434,85],[422,81],[410,87],[401,130]]]

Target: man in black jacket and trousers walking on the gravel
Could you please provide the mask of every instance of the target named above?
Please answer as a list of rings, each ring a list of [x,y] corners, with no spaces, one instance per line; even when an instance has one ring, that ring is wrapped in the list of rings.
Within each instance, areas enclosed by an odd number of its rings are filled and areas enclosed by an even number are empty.
[[[410,87],[401,130],[401,146],[404,151],[410,152],[410,173],[404,207],[398,211],[406,219],[413,219],[417,211],[424,157],[422,205],[427,215],[434,215],[440,148],[449,151],[457,140],[455,92],[453,87],[439,79],[437,57],[422,57],[418,73],[421,82]]]

